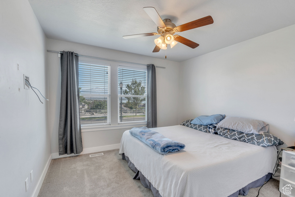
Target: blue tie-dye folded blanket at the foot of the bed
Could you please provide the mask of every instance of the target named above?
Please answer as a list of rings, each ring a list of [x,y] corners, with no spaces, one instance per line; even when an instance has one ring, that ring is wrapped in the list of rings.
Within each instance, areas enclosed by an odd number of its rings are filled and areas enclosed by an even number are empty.
[[[153,148],[160,154],[176,152],[185,148],[183,143],[166,138],[162,134],[152,131],[147,127],[134,127],[129,133]]]

